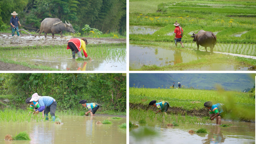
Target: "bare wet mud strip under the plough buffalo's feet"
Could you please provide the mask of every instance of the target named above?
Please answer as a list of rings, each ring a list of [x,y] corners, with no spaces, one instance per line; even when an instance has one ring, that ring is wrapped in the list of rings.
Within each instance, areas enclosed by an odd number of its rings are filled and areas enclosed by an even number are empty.
[[[38,35],[36,37],[29,34],[22,34],[22,36],[12,36],[11,33],[0,33],[0,46],[48,46],[48,45],[67,45],[68,41],[72,38],[85,38],[90,44],[100,44],[100,43],[126,43],[126,39],[112,39],[112,38],[93,38],[93,37],[73,37],[66,36],[60,38],[60,36],[55,36],[52,39],[52,35],[45,36],[41,35],[40,38]]]

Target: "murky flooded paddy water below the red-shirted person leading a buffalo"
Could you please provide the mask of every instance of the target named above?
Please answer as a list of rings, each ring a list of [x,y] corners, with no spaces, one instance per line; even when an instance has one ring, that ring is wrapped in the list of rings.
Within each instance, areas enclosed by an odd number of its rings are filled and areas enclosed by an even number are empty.
[[[129,67],[132,69],[139,69],[144,65],[157,65],[159,67],[175,65],[195,61],[200,58],[199,55],[182,52],[181,50],[151,46],[129,46]],[[201,68],[187,70],[248,70],[248,68],[241,65],[212,63]]]

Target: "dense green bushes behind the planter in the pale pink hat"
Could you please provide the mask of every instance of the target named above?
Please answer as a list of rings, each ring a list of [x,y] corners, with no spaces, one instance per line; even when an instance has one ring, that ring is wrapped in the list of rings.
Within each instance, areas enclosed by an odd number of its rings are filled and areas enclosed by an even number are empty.
[[[35,92],[51,96],[58,110],[80,110],[80,99],[96,102],[101,110],[126,111],[126,77],[121,73],[2,73],[0,108],[25,109],[25,100]]]

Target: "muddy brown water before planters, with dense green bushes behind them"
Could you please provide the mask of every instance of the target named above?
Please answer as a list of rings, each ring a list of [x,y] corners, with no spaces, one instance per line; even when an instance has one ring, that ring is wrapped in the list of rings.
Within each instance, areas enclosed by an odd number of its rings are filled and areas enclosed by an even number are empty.
[[[109,119],[113,124],[97,125],[109,116],[59,116],[62,125],[51,122],[0,122],[0,144],[126,144],[126,129],[118,125],[123,119]],[[4,141],[7,134],[27,131],[29,141]]]

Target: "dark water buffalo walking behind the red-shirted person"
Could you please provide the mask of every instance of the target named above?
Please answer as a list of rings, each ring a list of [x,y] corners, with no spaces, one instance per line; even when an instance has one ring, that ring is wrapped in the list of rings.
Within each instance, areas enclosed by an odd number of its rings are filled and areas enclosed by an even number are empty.
[[[197,34],[193,33],[193,41],[196,42],[197,50],[199,49],[199,45],[204,46],[206,52],[207,47],[210,47],[211,53],[213,53],[213,48],[216,45],[217,38],[215,34],[211,31],[200,30]]]

